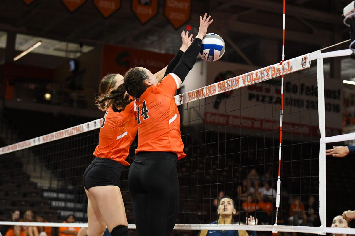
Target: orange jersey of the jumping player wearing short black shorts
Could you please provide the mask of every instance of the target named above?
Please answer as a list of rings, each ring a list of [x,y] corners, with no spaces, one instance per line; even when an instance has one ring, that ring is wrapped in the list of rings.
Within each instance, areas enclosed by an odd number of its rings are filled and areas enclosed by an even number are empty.
[[[131,102],[121,112],[114,112],[111,107],[107,109],[94,156],[109,158],[124,166],[130,165],[126,157],[138,128],[135,107],[135,102]]]

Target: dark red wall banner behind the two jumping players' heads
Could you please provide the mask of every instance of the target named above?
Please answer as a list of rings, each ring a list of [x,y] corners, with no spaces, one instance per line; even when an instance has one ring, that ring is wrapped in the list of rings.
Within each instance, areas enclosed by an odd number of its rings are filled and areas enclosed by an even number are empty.
[[[132,67],[144,67],[156,73],[166,67],[173,54],[144,51],[105,44],[103,47],[102,77],[108,74],[124,75]]]

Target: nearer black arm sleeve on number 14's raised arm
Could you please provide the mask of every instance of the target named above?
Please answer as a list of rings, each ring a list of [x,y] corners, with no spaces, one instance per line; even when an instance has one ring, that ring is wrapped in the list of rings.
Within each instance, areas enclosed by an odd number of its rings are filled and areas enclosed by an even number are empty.
[[[200,52],[202,39],[195,39],[191,43],[190,47],[187,48],[184,55],[182,55],[180,62],[173,69],[173,73],[180,77],[181,82],[184,82],[185,77],[189,74],[193,65],[196,63],[196,57],[198,52]]]

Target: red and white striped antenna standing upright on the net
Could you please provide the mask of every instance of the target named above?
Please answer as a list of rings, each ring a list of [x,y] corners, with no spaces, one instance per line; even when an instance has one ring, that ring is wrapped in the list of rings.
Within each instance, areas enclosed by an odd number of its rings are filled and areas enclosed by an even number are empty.
[[[282,20],[282,61],[280,65],[282,65],[285,61],[285,0],[283,0],[283,20]],[[276,217],[275,224],[277,225],[277,217],[279,213],[280,207],[280,192],[281,192],[281,152],[282,152],[282,111],[283,111],[283,103],[284,103],[284,75],[281,76],[281,109],[280,109],[280,146],[279,146],[279,172],[277,178],[277,187],[276,187]],[[273,230],[273,233],[277,233],[277,231]]]

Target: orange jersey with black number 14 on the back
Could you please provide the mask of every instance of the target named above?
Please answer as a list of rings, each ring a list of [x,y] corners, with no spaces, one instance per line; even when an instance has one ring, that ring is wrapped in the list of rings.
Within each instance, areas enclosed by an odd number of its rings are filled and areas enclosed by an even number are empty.
[[[174,94],[179,88],[175,74],[168,74],[162,82],[147,88],[137,104],[138,147],[140,151],[171,151],[178,159],[186,156],[181,140],[180,114]]]

